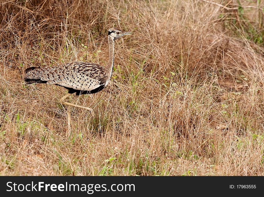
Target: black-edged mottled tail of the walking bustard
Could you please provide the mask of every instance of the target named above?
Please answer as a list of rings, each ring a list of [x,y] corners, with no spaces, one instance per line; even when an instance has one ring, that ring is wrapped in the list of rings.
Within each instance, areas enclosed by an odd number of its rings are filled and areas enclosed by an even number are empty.
[[[24,71],[24,81],[26,84],[31,83],[46,83],[47,81],[41,80],[43,71],[41,67],[33,66],[29,67]]]

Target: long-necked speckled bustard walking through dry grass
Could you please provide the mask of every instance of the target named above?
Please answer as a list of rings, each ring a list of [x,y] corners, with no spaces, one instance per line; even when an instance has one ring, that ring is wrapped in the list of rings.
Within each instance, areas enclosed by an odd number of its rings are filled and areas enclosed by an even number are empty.
[[[45,83],[66,88],[68,94],[61,97],[64,105],[87,109],[94,116],[93,109],[76,105],[75,102],[82,94],[95,94],[104,89],[110,81],[114,66],[115,40],[131,32],[123,32],[118,28],[108,30],[109,59],[106,66],[85,61],[74,61],[55,66],[34,66],[24,70],[25,84]],[[75,93],[72,103],[66,102]],[[68,114],[69,117],[69,114]]]

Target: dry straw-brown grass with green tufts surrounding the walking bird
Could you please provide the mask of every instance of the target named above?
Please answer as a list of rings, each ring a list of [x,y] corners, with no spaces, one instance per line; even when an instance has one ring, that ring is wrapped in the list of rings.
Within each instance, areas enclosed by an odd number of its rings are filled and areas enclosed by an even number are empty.
[[[214,2],[1,1],[0,174],[264,175],[264,2]],[[22,72],[106,64],[113,24],[133,36],[69,128],[66,89]]]

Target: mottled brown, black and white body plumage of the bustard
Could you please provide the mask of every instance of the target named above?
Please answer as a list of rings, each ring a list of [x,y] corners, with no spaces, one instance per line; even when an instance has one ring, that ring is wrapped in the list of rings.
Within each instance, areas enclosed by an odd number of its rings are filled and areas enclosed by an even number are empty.
[[[110,80],[104,67],[80,61],[53,67],[29,67],[25,72],[27,84],[55,84],[67,88],[70,94],[76,93],[76,95],[99,92]]]

